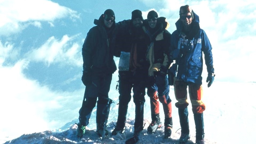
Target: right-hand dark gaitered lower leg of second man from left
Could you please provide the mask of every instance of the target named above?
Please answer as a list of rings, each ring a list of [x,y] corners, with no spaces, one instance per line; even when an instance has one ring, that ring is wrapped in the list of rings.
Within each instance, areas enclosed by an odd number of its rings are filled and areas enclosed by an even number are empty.
[[[144,102],[139,101],[135,103],[135,122],[134,122],[134,135],[139,135],[143,130],[144,120]]]

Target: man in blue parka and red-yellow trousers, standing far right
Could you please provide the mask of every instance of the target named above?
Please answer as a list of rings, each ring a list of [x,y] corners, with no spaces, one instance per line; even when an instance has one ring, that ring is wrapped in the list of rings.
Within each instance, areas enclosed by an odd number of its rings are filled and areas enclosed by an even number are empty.
[[[202,101],[202,71],[203,53],[207,67],[208,77],[206,82],[208,87],[214,80],[214,67],[212,58],[212,47],[203,29],[199,26],[199,17],[189,5],[181,6],[180,18],[176,22],[176,28],[171,37],[170,59],[175,59],[172,66],[176,69],[174,77],[174,92],[177,99],[175,106],[181,125],[180,142],[187,142],[189,139],[189,121],[187,106],[187,87],[189,87],[189,97],[192,104],[196,126],[196,143],[204,144],[204,123],[203,111],[205,104]]]

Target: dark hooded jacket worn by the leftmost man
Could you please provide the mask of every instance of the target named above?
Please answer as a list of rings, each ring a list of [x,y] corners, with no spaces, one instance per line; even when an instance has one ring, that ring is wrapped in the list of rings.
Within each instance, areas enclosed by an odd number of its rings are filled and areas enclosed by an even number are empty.
[[[87,33],[82,48],[83,70],[93,73],[114,73],[116,64],[113,59],[116,23],[111,28],[104,25],[103,14],[98,20],[94,20],[97,26],[92,27]]]

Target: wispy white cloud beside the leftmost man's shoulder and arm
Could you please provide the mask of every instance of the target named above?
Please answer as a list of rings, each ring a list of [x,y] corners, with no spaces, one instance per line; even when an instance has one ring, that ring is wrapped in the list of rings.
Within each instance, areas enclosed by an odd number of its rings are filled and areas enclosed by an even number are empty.
[[[64,35],[60,40],[50,37],[40,48],[29,52],[27,58],[30,61],[43,61],[48,66],[59,62],[81,66],[81,46],[72,42],[75,37]]]

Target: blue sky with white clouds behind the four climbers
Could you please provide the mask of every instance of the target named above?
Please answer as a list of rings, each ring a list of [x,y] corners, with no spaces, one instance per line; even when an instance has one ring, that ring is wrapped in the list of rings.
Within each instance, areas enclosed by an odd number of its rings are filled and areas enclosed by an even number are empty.
[[[144,19],[150,10],[155,10],[167,18],[168,31],[172,33],[179,7],[186,4],[199,15],[200,27],[210,39],[214,84],[256,82],[253,0],[0,0],[0,115],[4,116],[0,122],[1,139],[58,129],[78,118],[85,88],[81,82],[81,48],[94,19],[106,9],[115,12],[117,22],[130,19],[135,9],[142,11]],[[110,98],[118,103],[117,75],[116,71]],[[204,67],[203,84],[206,76]],[[173,93],[170,95],[174,100]]]

